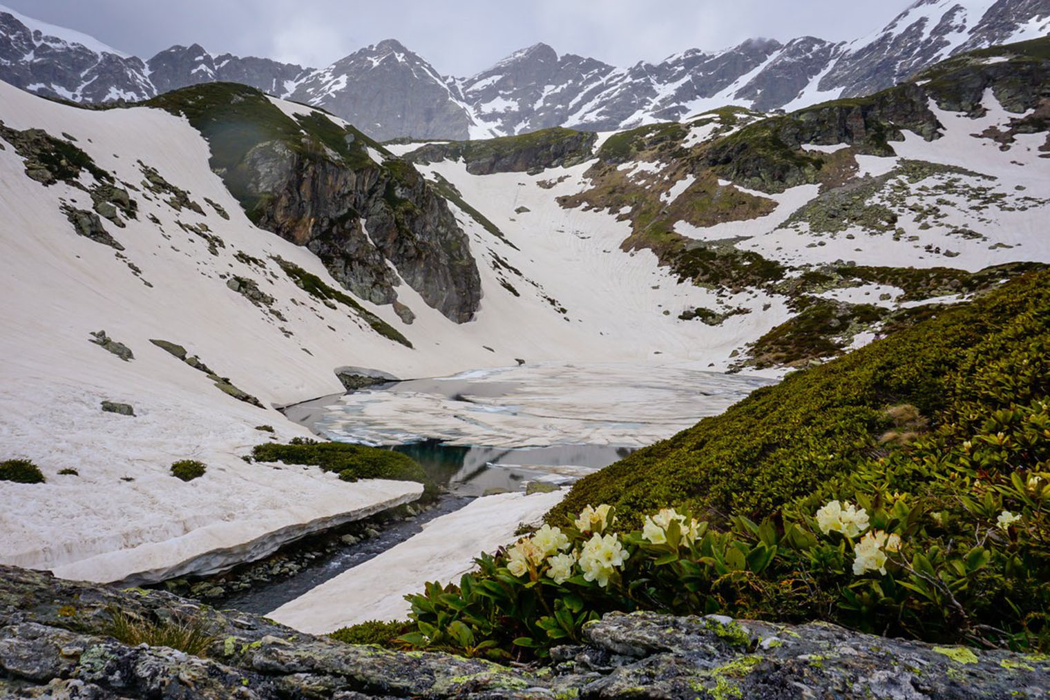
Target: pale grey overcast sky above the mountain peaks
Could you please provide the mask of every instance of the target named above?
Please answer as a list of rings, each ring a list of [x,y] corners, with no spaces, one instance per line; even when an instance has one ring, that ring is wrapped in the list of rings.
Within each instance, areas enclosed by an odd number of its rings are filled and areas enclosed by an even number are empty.
[[[321,67],[398,39],[445,75],[470,76],[545,42],[628,66],[750,37],[852,40],[911,0],[0,0],[147,59],[172,44]]]

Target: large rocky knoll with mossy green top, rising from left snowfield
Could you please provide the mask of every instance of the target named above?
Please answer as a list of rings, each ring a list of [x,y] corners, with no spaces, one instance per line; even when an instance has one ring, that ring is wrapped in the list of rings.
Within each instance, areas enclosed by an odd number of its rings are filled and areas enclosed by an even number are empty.
[[[481,279],[466,234],[415,168],[360,131],[319,112],[292,119],[227,83],[150,104],[185,114],[248,216],[309,248],[346,289],[392,303],[400,277],[450,320],[474,317]]]

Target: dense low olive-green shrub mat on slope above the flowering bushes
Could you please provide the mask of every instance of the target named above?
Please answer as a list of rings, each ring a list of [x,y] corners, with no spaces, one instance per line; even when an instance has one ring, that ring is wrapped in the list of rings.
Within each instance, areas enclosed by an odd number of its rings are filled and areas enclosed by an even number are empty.
[[[731,514],[761,519],[884,450],[879,439],[892,427],[888,406],[910,404],[934,428],[964,406],[979,409],[986,397],[970,382],[973,372],[1050,337],[1048,316],[1047,272],[939,310],[585,476],[548,522],[561,523],[594,503],[616,506],[625,526],[667,505],[714,521]],[[999,381],[1014,380],[1005,375]]]

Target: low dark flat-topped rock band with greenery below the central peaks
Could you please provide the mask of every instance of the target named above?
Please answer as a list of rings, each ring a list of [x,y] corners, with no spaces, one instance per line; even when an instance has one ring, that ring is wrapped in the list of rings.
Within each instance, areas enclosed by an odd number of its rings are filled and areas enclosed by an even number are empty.
[[[462,158],[472,175],[495,172],[540,172],[569,168],[593,157],[597,134],[556,127],[520,136],[487,141],[427,144],[405,158],[413,163],[436,163]]]

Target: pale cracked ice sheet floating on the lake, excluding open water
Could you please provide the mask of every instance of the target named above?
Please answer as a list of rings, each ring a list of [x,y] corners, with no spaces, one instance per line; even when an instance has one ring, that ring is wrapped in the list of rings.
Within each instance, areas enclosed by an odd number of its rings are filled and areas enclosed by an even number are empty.
[[[623,445],[668,438],[769,381],[689,366],[538,364],[402,382],[340,397],[315,429],[391,445]]]

